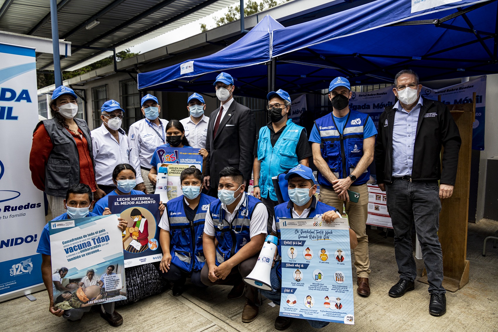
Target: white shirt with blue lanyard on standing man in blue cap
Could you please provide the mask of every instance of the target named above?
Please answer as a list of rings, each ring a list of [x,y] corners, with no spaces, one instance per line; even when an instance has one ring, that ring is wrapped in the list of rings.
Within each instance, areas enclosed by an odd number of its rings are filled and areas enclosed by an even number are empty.
[[[159,121],[159,126],[147,119],[138,120],[129,126],[129,163],[135,167],[137,174],[140,173],[140,166],[150,169],[150,160],[155,149],[166,143],[166,125],[168,122],[164,119],[159,119]]]

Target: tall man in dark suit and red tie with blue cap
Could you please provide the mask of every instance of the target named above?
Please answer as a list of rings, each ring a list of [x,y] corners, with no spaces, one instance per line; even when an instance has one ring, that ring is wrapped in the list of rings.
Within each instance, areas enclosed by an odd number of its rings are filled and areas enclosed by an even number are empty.
[[[244,175],[244,183],[250,179],[256,125],[252,111],[234,100],[235,85],[230,74],[222,72],[216,77],[213,85],[221,106],[211,113],[209,118],[204,185],[211,187],[209,192],[216,197],[218,174],[224,167],[240,169]]]

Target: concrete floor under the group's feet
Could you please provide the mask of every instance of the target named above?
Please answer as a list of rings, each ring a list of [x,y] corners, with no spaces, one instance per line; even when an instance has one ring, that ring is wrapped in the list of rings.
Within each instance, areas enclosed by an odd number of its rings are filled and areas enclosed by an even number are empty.
[[[392,299],[389,288],[398,279],[392,237],[384,238],[381,230],[369,230],[370,278],[372,294],[361,298],[355,294],[354,326],[331,323],[322,331],[358,332],[480,332],[498,331],[498,249],[488,244],[487,257],[482,257],[486,236],[498,229],[498,222],[483,220],[469,223],[467,259],[470,260],[470,282],[456,293],[448,292],[447,313],[433,317],[428,313],[427,285],[416,282],[415,290]],[[417,260],[419,275],[423,262]],[[354,282],[356,284],[356,281]],[[181,297],[168,290],[160,295],[120,307],[117,310],[124,324],[113,328],[94,309],[80,322],[68,322],[48,312],[46,291],[34,293],[36,301],[25,297],[0,303],[3,331],[180,331],[180,332],[266,332],[273,327],[278,306],[264,301],[260,314],[249,324],[242,323],[244,299],[228,300],[230,287],[213,286],[207,290],[190,285]],[[302,320],[294,320],[289,332],[312,331]]]

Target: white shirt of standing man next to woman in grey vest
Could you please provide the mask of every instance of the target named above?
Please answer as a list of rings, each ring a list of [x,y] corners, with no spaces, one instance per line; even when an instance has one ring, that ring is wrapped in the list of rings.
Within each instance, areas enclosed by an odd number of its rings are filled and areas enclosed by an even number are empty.
[[[113,170],[118,164],[129,164],[128,137],[122,128],[118,129],[120,142],[102,124],[90,132],[95,164],[95,181],[97,184],[114,185]],[[140,172],[136,174],[136,183],[142,183]]]

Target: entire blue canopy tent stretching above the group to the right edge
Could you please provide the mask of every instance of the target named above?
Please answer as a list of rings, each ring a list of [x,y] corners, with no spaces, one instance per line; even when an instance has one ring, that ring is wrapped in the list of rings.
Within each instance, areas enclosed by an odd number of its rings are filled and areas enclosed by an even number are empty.
[[[403,68],[421,80],[497,73],[497,9],[497,0],[377,0],[289,27],[266,16],[239,41],[193,60],[192,72],[140,73],[138,88],[213,92],[226,70],[238,95],[261,98],[274,87],[317,93],[336,76],[391,83]]]

